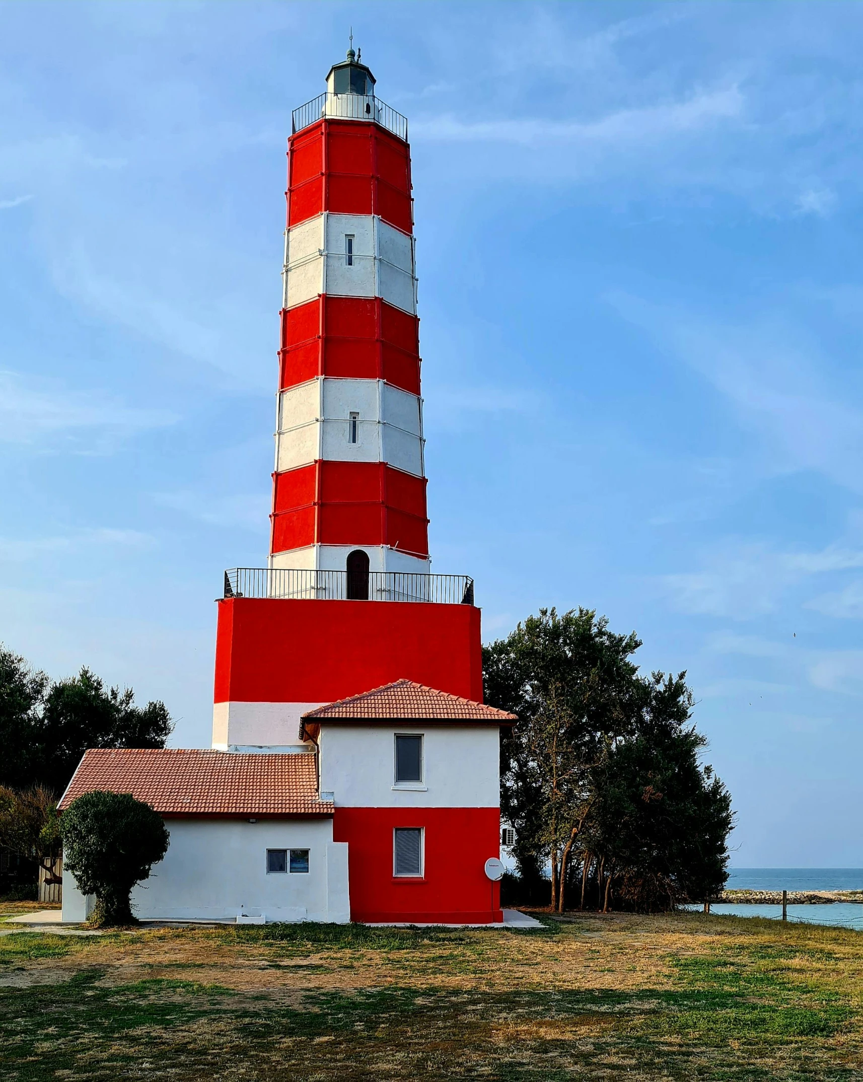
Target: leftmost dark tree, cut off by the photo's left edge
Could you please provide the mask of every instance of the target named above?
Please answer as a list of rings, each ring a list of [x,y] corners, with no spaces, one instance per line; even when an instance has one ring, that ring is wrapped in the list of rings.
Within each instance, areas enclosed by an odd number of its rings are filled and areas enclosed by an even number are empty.
[[[25,789],[39,780],[39,727],[48,686],[43,672],[0,644],[0,784]]]

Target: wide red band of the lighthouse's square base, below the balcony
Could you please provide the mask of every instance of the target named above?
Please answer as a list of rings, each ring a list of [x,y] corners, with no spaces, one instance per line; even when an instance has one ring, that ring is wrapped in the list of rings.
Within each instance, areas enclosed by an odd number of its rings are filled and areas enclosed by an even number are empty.
[[[214,702],[332,702],[407,679],[482,701],[480,611],[423,602],[218,602]]]

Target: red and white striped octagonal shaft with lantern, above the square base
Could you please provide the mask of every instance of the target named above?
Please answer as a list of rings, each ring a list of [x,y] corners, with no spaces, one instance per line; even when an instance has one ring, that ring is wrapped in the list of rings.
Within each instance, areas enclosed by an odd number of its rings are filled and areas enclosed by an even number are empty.
[[[353,49],[294,113],[273,568],[429,570],[407,134]]]

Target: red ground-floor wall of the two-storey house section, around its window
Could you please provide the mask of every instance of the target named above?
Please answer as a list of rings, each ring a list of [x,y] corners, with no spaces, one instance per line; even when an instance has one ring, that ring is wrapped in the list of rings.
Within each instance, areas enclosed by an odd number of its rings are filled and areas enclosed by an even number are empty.
[[[393,874],[393,831],[422,827],[422,879]],[[333,841],[348,843],[351,921],[493,924],[503,920],[484,863],[500,856],[499,808],[340,808]]]

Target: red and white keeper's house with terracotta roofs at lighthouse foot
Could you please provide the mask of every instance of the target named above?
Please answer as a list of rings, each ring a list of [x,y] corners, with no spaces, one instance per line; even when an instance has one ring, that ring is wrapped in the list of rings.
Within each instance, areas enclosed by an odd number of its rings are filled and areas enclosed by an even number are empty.
[[[101,789],[164,818],[168,854],[132,896],[142,919],[499,923],[483,866],[513,721],[401,679],[309,711],[277,753],[88,751],[61,809]],[[93,900],[67,872],[63,920]]]

